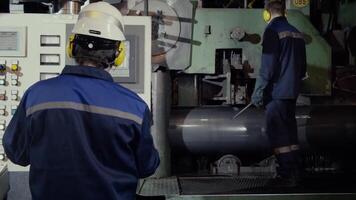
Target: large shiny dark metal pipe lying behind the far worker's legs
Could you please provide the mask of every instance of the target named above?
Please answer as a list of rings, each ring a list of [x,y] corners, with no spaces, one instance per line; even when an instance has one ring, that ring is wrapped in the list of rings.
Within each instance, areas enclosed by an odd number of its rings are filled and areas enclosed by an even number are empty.
[[[237,119],[232,107],[172,110],[169,141],[172,150],[193,154],[268,155],[262,109],[250,108]],[[356,107],[298,107],[298,136],[302,149],[355,154]]]

